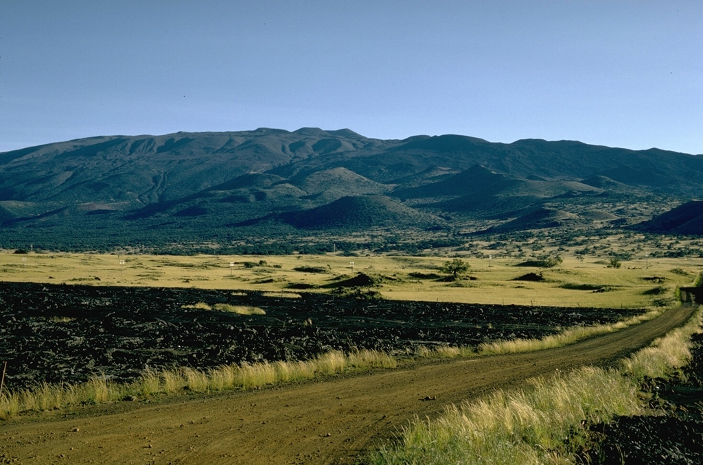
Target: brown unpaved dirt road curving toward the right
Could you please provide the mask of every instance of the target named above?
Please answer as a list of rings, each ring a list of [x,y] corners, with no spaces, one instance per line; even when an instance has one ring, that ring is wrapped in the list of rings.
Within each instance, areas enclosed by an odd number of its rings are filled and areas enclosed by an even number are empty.
[[[415,365],[254,392],[120,402],[0,423],[0,464],[349,464],[415,415],[531,376],[609,365],[692,308],[564,348]]]

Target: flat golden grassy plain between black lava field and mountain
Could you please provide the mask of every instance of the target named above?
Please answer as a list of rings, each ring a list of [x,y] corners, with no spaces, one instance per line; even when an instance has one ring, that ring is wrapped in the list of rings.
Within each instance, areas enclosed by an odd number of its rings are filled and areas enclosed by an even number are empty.
[[[0,281],[108,286],[252,289],[272,293],[330,292],[365,273],[385,299],[534,306],[640,308],[673,301],[691,284],[701,258],[633,258],[621,268],[607,260],[565,256],[554,268],[517,266],[525,258],[463,258],[462,280],[441,279],[442,256],[155,256],[0,253]],[[120,264],[120,262],[123,262]],[[352,263],[354,266],[352,268]],[[527,273],[540,280],[520,280]],[[534,278],[534,276],[533,276]]]

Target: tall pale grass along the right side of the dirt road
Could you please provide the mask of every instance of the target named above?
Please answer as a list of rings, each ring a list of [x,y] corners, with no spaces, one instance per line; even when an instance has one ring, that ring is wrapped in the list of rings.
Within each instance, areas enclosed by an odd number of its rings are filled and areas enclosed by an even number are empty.
[[[690,360],[690,337],[700,331],[699,308],[684,327],[622,362],[619,369],[582,367],[527,386],[496,391],[451,407],[434,421],[415,421],[399,444],[368,458],[391,464],[573,464],[588,443],[588,426],[616,415],[647,412],[647,379],[676,376]]]

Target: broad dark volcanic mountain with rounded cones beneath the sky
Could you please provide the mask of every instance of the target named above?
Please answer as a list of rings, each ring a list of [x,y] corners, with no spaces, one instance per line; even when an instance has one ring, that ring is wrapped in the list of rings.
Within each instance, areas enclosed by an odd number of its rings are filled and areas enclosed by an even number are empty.
[[[318,128],[99,136],[0,153],[0,247],[224,246],[432,225],[452,235],[496,220],[614,228],[700,192],[703,157],[569,140]],[[643,228],[699,233],[701,221],[682,210]]]

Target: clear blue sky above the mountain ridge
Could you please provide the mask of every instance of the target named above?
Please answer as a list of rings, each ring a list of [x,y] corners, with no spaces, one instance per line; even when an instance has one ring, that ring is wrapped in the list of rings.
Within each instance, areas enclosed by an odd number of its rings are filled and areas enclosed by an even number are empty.
[[[703,153],[702,0],[0,0],[0,152],[349,128]]]

